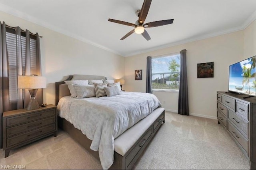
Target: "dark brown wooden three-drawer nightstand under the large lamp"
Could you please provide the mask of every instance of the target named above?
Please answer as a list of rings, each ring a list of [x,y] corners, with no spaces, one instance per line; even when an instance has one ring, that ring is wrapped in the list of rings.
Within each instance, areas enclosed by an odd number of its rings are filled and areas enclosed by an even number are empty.
[[[57,136],[57,106],[49,104],[34,110],[18,109],[3,113],[3,150],[10,150],[46,136]]]

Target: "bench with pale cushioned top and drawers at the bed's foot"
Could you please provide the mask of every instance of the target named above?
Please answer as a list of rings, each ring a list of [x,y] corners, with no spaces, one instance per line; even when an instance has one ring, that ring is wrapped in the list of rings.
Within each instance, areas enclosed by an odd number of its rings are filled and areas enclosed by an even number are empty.
[[[164,122],[164,108],[157,108],[114,140],[115,152],[124,158],[124,169],[132,168],[162,122]]]

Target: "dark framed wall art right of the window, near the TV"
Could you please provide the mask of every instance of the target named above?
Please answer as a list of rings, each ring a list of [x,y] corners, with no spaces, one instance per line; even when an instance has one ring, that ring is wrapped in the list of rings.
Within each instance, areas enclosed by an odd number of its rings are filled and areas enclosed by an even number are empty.
[[[213,62],[197,64],[197,78],[213,77]]]

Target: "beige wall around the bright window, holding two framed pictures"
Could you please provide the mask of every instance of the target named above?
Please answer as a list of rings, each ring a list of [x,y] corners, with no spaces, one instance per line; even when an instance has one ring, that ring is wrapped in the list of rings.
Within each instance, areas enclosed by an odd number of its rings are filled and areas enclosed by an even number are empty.
[[[171,54],[182,49],[188,50],[189,112],[191,115],[216,119],[216,91],[228,90],[228,66],[243,58],[243,31],[126,57],[126,84],[123,89],[146,92],[146,57]],[[197,64],[204,62],[214,62],[214,78],[197,78]],[[134,80],[134,70],[138,69],[142,69],[142,80]],[[178,111],[178,92],[155,91],[153,94],[166,110]]]

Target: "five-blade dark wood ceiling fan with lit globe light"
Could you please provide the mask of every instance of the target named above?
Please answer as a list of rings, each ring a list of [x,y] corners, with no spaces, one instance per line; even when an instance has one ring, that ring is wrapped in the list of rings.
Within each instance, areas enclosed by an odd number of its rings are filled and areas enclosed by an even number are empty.
[[[144,0],[141,10],[136,11],[136,15],[139,17],[139,20],[137,20],[135,24],[132,24],[130,22],[120,21],[120,20],[114,20],[114,19],[110,19],[110,18],[108,19],[108,21],[110,21],[110,22],[115,22],[118,24],[123,24],[123,25],[128,25],[128,26],[134,26],[134,29],[131,30],[130,32],[128,32],[120,40],[124,40],[124,38],[130,36],[134,32],[136,34],[142,34],[142,36],[144,36],[144,38],[146,38],[146,40],[150,40],[151,38],[150,38],[148,32],[144,28],[163,26],[163,25],[173,23],[173,19],[171,19],[171,20],[160,20],[160,21],[148,22],[148,23],[144,24],[144,21],[146,20],[146,17],[148,15],[148,10],[150,8],[151,2],[152,2],[152,0]]]

